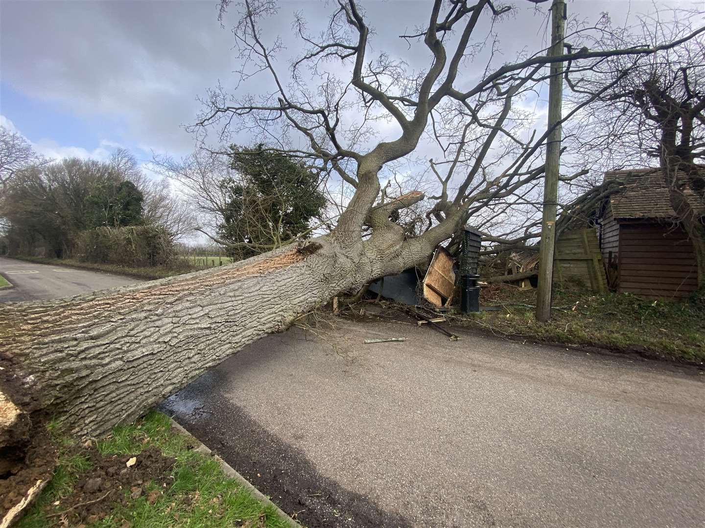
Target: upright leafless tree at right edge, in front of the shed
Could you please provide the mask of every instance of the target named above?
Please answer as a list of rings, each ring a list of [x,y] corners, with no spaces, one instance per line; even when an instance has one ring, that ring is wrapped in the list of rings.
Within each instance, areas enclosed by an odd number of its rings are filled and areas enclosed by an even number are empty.
[[[674,36],[689,16],[699,14],[675,11],[671,24],[645,20],[643,37]],[[694,246],[698,282],[705,286],[705,40],[689,39],[642,61],[612,57],[608,65],[611,75],[570,84],[571,101],[578,104],[610,85],[582,111],[572,144],[603,168],[658,165],[670,205]],[[616,71],[626,75],[616,79]]]

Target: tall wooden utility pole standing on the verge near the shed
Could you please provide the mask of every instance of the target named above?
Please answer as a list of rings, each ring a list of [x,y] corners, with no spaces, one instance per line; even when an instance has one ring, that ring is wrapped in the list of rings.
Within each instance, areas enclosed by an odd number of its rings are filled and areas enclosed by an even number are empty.
[[[565,37],[565,0],[551,5],[551,48],[548,56],[563,55]],[[553,282],[553,250],[556,244],[556,207],[558,206],[558,171],[560,170],[560,118],[563,105],[563,62],[551,64],[548,86],[548,144],[546,144],[546,178],[544,180],[544,217],[541,220],[539,249],[539,290],[536,318],[551,318],[551,283]]]

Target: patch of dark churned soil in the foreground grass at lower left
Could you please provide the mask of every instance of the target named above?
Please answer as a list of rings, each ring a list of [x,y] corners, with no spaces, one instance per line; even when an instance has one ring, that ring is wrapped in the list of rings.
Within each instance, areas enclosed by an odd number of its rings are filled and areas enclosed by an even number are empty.
[[[147,482],[152,481],[162,489],[172,482],[170,470],[176,459],[162,455],[157,448],[147,448],[134,456],[102,456],[94,447],[77,448],[75,452],[87,456],[92,467],[75,483],[71,495],[59,504],[47,505],[47,518],[56,525],[96,522],[109,515],[116,504],[126,505],[142,495],[154,502],[159,492],[148,492]],[[134,463],[130,463],[132,458],[136,459]]]

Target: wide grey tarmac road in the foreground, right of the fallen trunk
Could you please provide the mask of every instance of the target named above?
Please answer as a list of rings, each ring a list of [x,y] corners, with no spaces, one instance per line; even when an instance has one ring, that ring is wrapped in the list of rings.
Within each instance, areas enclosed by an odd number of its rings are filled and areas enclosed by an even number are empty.
[[[404,322],[321,332],[257,341],[162,406],[303,524],[703,526],[697,370]],[[362,344],[384,337],[410,340]]]

